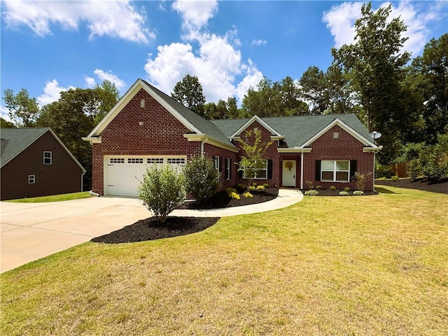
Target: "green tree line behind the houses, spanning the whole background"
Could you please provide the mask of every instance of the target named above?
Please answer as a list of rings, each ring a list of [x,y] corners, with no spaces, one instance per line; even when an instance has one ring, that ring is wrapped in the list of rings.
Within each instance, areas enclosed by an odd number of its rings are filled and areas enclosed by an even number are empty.
[[[241,107],[235,97],[206,103],[190,74],[176,83],[172,97],[207,119],[356,113],[370,132],[383,134],[379,162],[394,162],[414,144],[435,145],[448,132],[448,34],[432,38],[411,61],[401,51],[406,26],[400,18],[389,20],[390,13],[391,5],[374,11],[364,4],[355,42],[332,48],[328,69],[309,66],[299,80],[264,77],[248,89]],[[80,138],[118,102],[119,92],[105,80],[93,89],[61,92],[57,102],[42,107],[26,89],[4,90],[3,99],[13,123],[1,119],[1,127],[51,127],[91,172],[92,150]]]

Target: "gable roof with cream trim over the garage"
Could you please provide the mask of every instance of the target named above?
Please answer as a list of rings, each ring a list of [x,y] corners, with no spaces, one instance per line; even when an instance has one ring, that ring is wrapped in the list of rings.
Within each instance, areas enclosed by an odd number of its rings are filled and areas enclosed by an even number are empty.
[[[86,140],[89,138],[99,137],[103,130],[111,123],[113,118],[115,118],[118,113],[126,106],[128,102],[134,97],[139,90],[144,89],[148,94],[151,95],[156,101],[158,101],[169,113],[177,118],[183,125],[185,125],[190,132],[193,134],[201,134],[207,135],[215,139],[225,146],[232,146],[236,148],[233,144],[230,143],[228,137],[219,130],[214,123],[211,123],[209,120],[202,118],[197,113],[187,109],[185,106],[177,102],[172,97],[169,97],[164,92],[158,90],[153,85],[146,82],[146,80],[138,79],[132,87],[120,98],[118,103],[113,106],[111,111],[106,114],[106,116],[99,122],[97,127],[95,127],[92,132],[85,138]]]

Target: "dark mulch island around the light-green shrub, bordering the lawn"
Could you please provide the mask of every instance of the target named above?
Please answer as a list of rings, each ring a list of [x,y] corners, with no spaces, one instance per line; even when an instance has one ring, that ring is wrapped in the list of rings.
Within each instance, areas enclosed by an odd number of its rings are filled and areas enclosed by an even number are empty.
[[[168,217],[164,224],[155,218],[146,218],[113,231],[108,235],[93,238],[97,243],[118,244],[135,241],[178,237],[200,232],[218,221],[219,217]]]

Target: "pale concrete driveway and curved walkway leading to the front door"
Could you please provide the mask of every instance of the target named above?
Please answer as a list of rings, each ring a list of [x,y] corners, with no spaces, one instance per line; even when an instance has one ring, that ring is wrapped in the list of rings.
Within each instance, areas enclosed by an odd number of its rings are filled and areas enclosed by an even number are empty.
[[[175,210],[171,216],[223,217],[254,214],[300,202],[298,190],[280,189],[276,199],[210,210]],[[63,251],[131,225],[151,214],[137,199],[90,197],[52,203],[0,202],[0,272]]]

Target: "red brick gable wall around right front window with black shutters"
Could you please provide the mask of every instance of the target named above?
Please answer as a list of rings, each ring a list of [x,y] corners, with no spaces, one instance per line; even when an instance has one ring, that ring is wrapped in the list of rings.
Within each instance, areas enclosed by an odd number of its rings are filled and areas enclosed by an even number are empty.
[[[338,139],[333,139],[333,132],[339,132]],[[323,188],[335,186],[343,189],[348,186],[351,190],[356,190],[355,182],[322,182],[315,179],[316,160],[356,160],[356,171],[366,177],[365,190],[373,190],[373,153],[363,153],[363,147],[360,141],[338,125],[332,127],[311,144],[311,153],[304,153],[304,188],[307,188],[306,181],[311,181],[314,186],[320,185]]]

